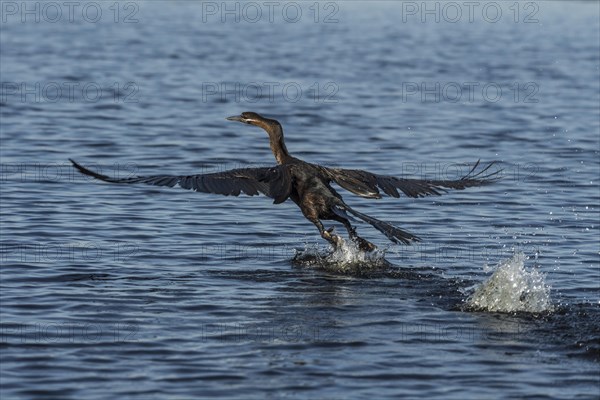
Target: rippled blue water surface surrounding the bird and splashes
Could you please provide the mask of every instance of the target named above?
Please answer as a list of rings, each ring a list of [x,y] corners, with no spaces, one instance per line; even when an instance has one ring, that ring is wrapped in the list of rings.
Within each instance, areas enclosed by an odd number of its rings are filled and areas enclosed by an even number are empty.
[[[61,4],[2,2],[3,399],[597,398],[598,3]],[[481,158],[504,179],[345,194],[424,239],[352,275],[292,262],[326,246],[290,202],[67,162],[271,164],[264,132],[224,119],[247,110],[308,161],[455,179]],[[555,311],[467,311],[516,251]]]

